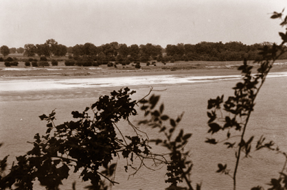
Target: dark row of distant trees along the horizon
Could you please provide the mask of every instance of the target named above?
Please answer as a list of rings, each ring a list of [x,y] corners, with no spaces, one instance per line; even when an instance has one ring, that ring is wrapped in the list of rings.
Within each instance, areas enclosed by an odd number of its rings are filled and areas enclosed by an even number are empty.
[[[8,56],[14,53],[24,53],[25,56],[66,56],[69,54],[71,58],[77,60],[82,57],[91,57],[93,60],[119,61],[126,59],[129,61],[148,62],[150,60],[175,62],[175,61],[236,61],[243,60],[258,60],[261,58],[259,49],[264,46],[271,47],[273,44],[255,43],[253,45],[245,45],[241,42],[229,43],[211,43],[200,42],[196,45],[178,43],[177,45],[167,45],[165,48],[161,45],[126,45],[117,42],[106,43],[100,46],[95,46],[93,43],[77,44],[73,47],[67,47],[58,44],[56,40],[49,39],[43,44],[25,44],[24,48],[16,49],[3,45],[0,49],[3,56]],[[281,59],[287,59],[287,54],[282,55]]]

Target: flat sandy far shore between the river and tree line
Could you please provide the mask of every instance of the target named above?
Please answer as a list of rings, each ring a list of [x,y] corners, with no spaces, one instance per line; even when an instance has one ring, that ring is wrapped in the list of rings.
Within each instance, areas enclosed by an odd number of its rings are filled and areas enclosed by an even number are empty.
[[[235,62],[175,62],[157,66],[146,66],[141,63],[141,69],[135,69],[132,64],[127,66],[117,65],[117,68],[106,67],[66,67],[64,62],[58,66],[50,67],[25,67],[19,62],[17,67],[4,67],[0,63],[0,80],[27,80],[27,79],[69,79],[69,78],[119,78],[143,75],[185,75],[185,76],[217,76],[240,75],[238,66],[242,61]],[[253,64],[254,71],[259,67]],[[271,72],[287,71],[287,60],[278,60]]]

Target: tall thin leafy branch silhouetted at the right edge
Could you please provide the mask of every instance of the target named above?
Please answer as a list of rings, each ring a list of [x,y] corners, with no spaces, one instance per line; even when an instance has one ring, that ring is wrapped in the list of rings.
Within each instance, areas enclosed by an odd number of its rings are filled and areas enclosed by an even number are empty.
[[[282,11],[283,12],[283,11]],[[271,19],[281,18],[282,13],[274,12]],[[286,25],[287,16],[281,25]],[[234,95],[228,97],[227,101],[224,102],[224,96],[216,97],[216,99],[209,99],[207,109],[210,110],[207,112],[209,117],[208,126],[211,134],[218,133],[221,131],[227,132],[227,139],[221,141],[216,141],[216,139],[209,139],[205,142],[216,145],[218,143],[224,143],[227,145],[227,148],[233,148],[236,150],[236,166],[233,170],[233,175],[230,174],[231,169],[227,169],[227,164],[222,165],[218,164],[218,173],[224,173],[233,179],[233,189],[236,189],[236,174],[238,172],[238,166],[240,163],[241,153],[245,154],[245,157],[249,157],[251,154],[251,143],[255,136],[251,136],[250,139],[245,139],[244,134],[246,133],[247,124],[249,123],[249,118],[251,117],[251,112],[255,106],[255,99],[264,84],[266,77],[273,67],[275,60],[282,56],[286,51],[285,43],[287,43],[287,32],[286,34],[279,32],[279,35],[282,37],[282,43],[276,45],[275,43],[271,46],[265,45],[260,49],[261,59],[255,60],[255,63],[260,64],[260,67],[257,69],[255,75],[252,74],[253,67],[247,64],[246,60],[244,63],[238,67],[238,70],[242,72],[243,82],[238,82],[236,86],[233,87]],[[220,115],[218,116],[218,112]],[[225,113],[223,117],[222,113]],[[240,137],[238,141],[233,140],[236,137]],[[232,139],[231,139],[232,138]],[[264,142],[264,136],[261,136],[257,141],[257,145],[254,151],[260,150],[263,147],[268,148],[269,150],[274,150],[278,153],[283,154],[286,157],[286,153],[281,152],[279,148],[275,148],[273,141],[268,143]],[[284,171],[286,163],[282,169]],[[287,187],[287,178],[286,174],[280,173],[279,179],[272,179],[271,189],[284,189]],[[285,185],[282,187],[280,182],[283,182]],[[263,187],[253,187],[253,189],[263,189]]]

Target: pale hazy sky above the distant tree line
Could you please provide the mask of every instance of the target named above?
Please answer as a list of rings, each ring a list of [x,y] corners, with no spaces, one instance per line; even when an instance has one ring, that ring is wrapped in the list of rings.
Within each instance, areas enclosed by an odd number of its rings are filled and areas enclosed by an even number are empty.
[[[0,0],[0,46],[280,42],[287,0]],[[286,9],[287,12],[287,9]]]

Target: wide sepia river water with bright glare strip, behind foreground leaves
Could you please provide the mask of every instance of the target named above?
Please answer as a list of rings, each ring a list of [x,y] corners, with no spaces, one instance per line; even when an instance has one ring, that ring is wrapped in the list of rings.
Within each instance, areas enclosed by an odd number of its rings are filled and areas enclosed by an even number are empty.
[[[232,95],[232,87],[240,76],[192,78],[181,75],[164,75],[160,77],[147,76],[135,78],[105,78],[77,80],[0,80],[0,158],[10,155],[9,162],[15,156],[25,154],[32,146],[27,141],[33,141],[34,134],[44,134],[45,122],[38,115],[49,114],[56,108],[56,124],[72,119],[72,110],[84,110],[93,104],[97,97],[106,95],[113,89],[125,86],[137,91],[134,99],[146,95],[150,86],[155,94],[161,95],[165,104],[165,112],[176,118],[184,112],[180,127],[185,132],[191,132],[192,138],[187,144],[191,151],[190,159],[194,163],[192,181],[202,183],[202,189],[232,189],[232,180],[224,174],[217,174],[218,163],[227,164],[233,171],[235,156],[233,150],[227,150],[223,145],[205,143],[207,134],[207,100],[225,94]],[[260,95],[257,97],[255,111],[251,116],[246,139],[262,134],[287,152],[286,132],[286,73],[273,73],[266,80]],[[164,90],[164,91],[162,91]],[[139,115],[134,122],[142,119]],[[130,134],[127,123],[120,124],[125,134]],[[160,134],[148,127],[141,127],[148,133],[150,139]],[[155,152],[165,151],[162,147],[153,147]],[[252,158],[243,158],[238,171],[238,189],[251,189],[262,185],[265,188],[271,178],[277,178],[284,165],[284,157],[273,152],[262,150],[251,154]],[[135,176],[132,170],[124,171],[123,159],[115,158],[117,173],[113,189],[165,189],[165,167],[157,171],[141,168]],[[137,163],[135,163],[136,166]],[[148,163],[147,163],[148,164]],[[61,189],[71,189],[71,182],[76,180],[76,189],[83,189],[84,184],[78,179],[78,174],[64,182]],[[36,186],[36,189],[45,189]],[[266,188],[267,189],[267,188]]]

